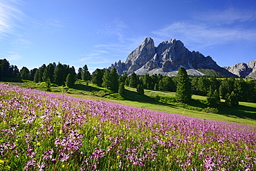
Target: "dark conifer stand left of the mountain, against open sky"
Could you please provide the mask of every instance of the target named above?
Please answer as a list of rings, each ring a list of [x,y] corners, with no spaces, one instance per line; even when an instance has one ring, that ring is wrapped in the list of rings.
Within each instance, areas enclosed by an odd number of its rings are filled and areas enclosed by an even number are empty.
[[[6,59],[0,59],[0,81],[19,81],[21,79],[34,81],[35,83],[46,82],[51,86],[55,83],[57,86],[72,87],[77,79],[91,80],[91,74],[88,67],[84,65],[79,68],[77,73],[75,68],[62,63],[43,64],[39,68],[28,70],[25,66],[19,70],[17,66],[10,65]]]

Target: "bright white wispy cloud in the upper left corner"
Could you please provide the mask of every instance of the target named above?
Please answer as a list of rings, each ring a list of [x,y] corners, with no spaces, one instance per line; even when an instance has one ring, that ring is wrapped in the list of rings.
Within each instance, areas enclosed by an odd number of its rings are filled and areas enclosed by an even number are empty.
[[[16,26],[15,21],[21,19],[24,15],[19,8],[17,8],[17,1],[14,0],[0,0],[0,35],[1,37],[14,33]],[[1,39],[0,37],[0,39]]]

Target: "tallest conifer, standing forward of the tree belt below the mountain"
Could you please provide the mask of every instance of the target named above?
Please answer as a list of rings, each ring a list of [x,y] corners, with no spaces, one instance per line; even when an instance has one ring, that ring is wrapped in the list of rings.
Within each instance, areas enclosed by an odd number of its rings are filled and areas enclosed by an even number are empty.
[[[192,89],[185,68],[179,68],[178,75],[176,77],[176,101],[181,103],[187,103],[192,97]]]

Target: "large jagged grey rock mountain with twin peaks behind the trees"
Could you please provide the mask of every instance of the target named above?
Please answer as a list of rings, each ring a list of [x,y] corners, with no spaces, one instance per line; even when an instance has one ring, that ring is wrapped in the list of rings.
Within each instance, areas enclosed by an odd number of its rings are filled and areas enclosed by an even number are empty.
[[[228,70],[217,65],[211,57],[204,57],[199,52],[190,52],[184,44],[176,39],[163,41],[157,47],[152,38],[147,37],[141,44],[128,55],[124,62],[112,64],[109,69],[116,68],[118,74],[163,74],[174,76],[183,66],[190,75],[204,75],[198,68],[212,69],[228,76],[235,76]]]

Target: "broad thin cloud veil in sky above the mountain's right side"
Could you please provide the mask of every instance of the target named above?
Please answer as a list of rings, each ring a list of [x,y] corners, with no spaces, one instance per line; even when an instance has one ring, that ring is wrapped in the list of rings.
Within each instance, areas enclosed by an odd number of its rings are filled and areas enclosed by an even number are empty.
[[[255,41],[256,28],[244,26],[255,21],[255,16],[256,12],[233,8],[205,12],[194,16],[192,21],[174,22],[153,34],[162,39],[180,39],[197,50],[231,41]]]

